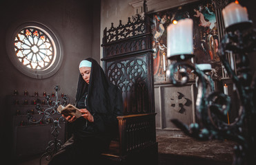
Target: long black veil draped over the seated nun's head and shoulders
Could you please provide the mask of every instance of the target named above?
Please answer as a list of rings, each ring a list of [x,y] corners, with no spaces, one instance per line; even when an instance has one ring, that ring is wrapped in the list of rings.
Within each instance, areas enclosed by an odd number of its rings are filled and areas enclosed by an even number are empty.
[[[81,74],[79,74],[76,103],[87,91],[86,108],[90,113],[114,113],[115,115],[121,115],[123,111],[121,91],[110,83],[97,61],[92,58],[86,58],[86,60],[92,62],[90,83],[88,85],[83,80]]]

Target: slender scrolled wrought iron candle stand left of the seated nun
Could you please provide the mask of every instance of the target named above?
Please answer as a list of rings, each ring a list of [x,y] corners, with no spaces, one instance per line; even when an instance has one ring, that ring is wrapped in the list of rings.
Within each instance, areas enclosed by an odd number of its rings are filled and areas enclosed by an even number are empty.
[[[42,114],[41,118],[38,121],[32,120],[32,115],[28,113],[28,121],[33,124],[39,124],[40,122],[45,122],[46,124],[52,124],[52,136],[54,137],[54,140],[50,140],[48,142],[48,146],[46,147],[46,152],[43,153],[40,157],[40,164],[41,164],[41,159],[43,157],[46,157],[46,160],[50,160],[52,158],[52,155],[57,153],[57,151],[61,148],[61,140],[58,139],[59,135],[59,128],[61,126],[59,125],[59,122],[63,122],[65,118],[57,111],[57,107],[61,104],[61,102],[58,100],[58,91],[60,90],[59,85],[55,86],[55,96],[56,100],[52,101],[50,100],[50,95],[46,95],[46,102],[48,104],[48,108],[46,110],[43,110],[41,108],[41,104],[37,104],[36,109],[39,112],[39,114]],[[53,93],[54,94],[54,93]],[[68,97],[66,95],[61,96],[63,99],[63,106],[67,104]],[[51,103],[50,103],[51,102]],[[52,118],[52,115],[58,114],[60,115],[59,118]]]

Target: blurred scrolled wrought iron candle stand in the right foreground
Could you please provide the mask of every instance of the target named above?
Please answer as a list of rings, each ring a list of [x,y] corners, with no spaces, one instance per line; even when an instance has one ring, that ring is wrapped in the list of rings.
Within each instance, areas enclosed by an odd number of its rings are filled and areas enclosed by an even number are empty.
[[[189,126],[177,119],[171,120],[186,135],[197,140],[233,140],[235,145],[233,164],[255,164],[256,159],[256,73],[250,74],[248,53],[256,50],[256,30],[252,23],[237,23],[226,28],[227,34],[221,41],[219,57],[226,72],[233,80],[240,107],[239,116],[233,123],[226,123],[226,115],[230,111],[230,97],[214,91],[213,80],[204,74],[197,65],[188,59],[192,55],[170,57],[177,62],[170,65],[170,80],[174,85],[182,86],[188,82],[186,68],[194,70],[198,76],[198,94],[196,114],[199,123]],[[226,53],[233,52],[236,56],[237,74],[230,67]],[[175,79],[175,68],[181,67],[181,80]],[[220,101],[221,100],[221,101]]]

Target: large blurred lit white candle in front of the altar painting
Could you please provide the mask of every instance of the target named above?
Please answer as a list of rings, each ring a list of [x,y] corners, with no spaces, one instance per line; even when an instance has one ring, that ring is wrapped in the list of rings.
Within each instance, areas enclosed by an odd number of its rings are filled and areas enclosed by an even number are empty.
[[[181,19],[167,28],[167,56],[193,54],[193,20]]]

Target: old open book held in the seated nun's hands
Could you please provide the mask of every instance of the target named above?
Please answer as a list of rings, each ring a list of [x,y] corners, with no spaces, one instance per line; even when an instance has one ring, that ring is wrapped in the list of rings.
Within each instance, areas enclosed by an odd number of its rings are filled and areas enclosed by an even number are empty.
[[[77,107],[72,104],[68,104],[66,107],[64,107],[63,105],[59,105],[57,111],[65,116],[71,115],[72,117],[73,115],[75,115],[76,118],[81,117],[81,111],[79,111],[79,109],[77,109]]]

